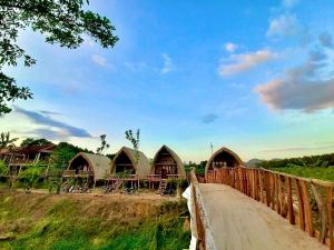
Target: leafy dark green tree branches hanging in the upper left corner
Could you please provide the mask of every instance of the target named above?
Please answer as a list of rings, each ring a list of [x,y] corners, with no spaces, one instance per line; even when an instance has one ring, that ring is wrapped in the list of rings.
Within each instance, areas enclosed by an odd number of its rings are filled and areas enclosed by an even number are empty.
[[[87,10],[89,0],[0,0],[0,116],[9,113],[8,102],[31,99],[27,87],[18,87],[6,76],[4,66],[16,67],[23,61],[31,67],[36,60],[17,44],[19,30],[31,28],[46,36],[46,41],[76,49],[90,37],[104,48],[114,47],[118,37],[106,17]]]

